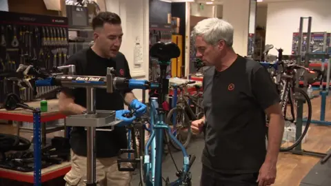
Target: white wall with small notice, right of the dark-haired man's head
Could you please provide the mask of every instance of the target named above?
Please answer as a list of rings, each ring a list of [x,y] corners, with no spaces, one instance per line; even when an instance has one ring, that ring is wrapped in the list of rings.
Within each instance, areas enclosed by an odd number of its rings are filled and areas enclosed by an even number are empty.
[[[126,55],[133,79],[148,79],[149,65],[149,19],[148,0],[106,0],[106,10],[119,14],[123,27],[121,52]],[[134,65],[136,38],[143,47],[143,63]],[[142,99],[142,90],[134,90],[137,99]],[[147,98],[147,97],[146,97]]]

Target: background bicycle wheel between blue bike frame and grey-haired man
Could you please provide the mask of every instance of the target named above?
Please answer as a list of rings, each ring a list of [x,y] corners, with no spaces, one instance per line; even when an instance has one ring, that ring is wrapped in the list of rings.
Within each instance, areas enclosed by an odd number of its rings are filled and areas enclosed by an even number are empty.
[[[172,118],[174,113],[177,114],[175,127],[174,124],[172,123]],[[167,115],[166,123],[168,125],[172,125],[172,134],[174,134],[177,140],[181,142],[181,144],[185,148],[188,147],[188,144],[190,143],[190,139],[192,136],[192,132],[191,132],[191,122],[190,119],[188,118],[188,115],[185,113],[185,110],[182,107],[172,108],[172,110],[170,110]],[[170,138],[170,143],[175,149],[181,150],[179,145],[177,145],[177,143],[175,143],[171,138]]]

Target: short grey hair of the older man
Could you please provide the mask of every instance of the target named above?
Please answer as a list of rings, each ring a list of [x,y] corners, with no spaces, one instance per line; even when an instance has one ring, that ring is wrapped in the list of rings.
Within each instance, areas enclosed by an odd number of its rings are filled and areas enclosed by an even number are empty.
[[[191,37],[195,39],[197,36],[203,37],[203,40],[210,45],[216,45],[220,40],[224,40],[226,45],[232,47],[233,27],[223,19],[203,19],[192,30]]]

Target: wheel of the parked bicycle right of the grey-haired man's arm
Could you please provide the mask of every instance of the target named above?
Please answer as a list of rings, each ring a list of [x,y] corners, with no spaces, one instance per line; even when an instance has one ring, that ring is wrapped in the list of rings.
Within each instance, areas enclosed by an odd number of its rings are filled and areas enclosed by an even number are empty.
[[[301,136],[299,138],[296,138],[297,136],[297,97],[296,95],[299,95],[299,98],[303,99],[303,103],[307,103],[303,105],[303,118],[306,119],[305,122],[303,122],[303,130],[301,133]],[[308,132],[310,121],[312,119],[312,103],[310,102],[309,96],[300,88],[294,88],[294,92],[292,92],[292,95],[290,95],[292,99],[288,99],[288,103],[286,104],[286,108],[284,109],[284,120],[285,120],[285,127],[284,127],[284,134],[283,134],[283,141],[281,144],[280,151],[281,152],[287,152],[294,147],[297,147],[299,143],[303,140],[305,135]],[[289,96],[289,97],[290,97]],[[306,106],[305,106],[306,105]],[[289,146],[285,146],[285,145]]]

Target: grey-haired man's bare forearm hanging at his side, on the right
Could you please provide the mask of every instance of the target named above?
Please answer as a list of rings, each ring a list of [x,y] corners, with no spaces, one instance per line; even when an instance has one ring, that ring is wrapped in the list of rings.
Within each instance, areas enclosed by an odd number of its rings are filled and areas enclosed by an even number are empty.
[[[279,147],[283,138],[284,120],[279,114],[272,114],[269,121],[268,149],[265,161],[277,162]]]

